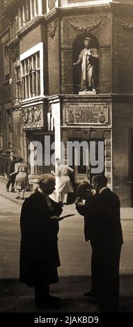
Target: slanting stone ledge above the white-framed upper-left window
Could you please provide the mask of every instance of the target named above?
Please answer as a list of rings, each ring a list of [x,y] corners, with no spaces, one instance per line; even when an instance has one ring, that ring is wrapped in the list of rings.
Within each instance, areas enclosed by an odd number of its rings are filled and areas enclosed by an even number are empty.
[[[34,27],[38,26],[39,24],[45,24],[44,16],[33,17],[33,19],[31,19],[28,23],[26,23],[26,25],[22,26],[22,28],[16,32],[17,38],[22,38],[23,35],[31,31]]]

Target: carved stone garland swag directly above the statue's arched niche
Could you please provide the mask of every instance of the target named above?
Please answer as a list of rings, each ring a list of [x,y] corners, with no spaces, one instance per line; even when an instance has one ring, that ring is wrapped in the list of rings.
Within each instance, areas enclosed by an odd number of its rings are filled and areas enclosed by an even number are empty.
[[[76,31],[80,31],[81,33],[88,33],[104,26],[107,23],[107,15],[104,15],[102,17],[95,15],[91,17],[87,26],[81,26],[79,22],[77,22],[76,17],[71,18],[69,20],[69,23]]]

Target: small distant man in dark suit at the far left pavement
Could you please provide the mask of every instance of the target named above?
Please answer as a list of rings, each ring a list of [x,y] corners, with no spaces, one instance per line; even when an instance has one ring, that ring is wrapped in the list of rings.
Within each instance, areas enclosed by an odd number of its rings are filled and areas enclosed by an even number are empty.
[[[15,152],[10,151],[10,157],[6,159],[5,163],[5,176],[8,177],[8,182],[6,183],[6,191],[9,191],[9,187],[11,184],[11,192],[14,192],[14,184],[15,184],[15,175],[11,175],[15,170]]]

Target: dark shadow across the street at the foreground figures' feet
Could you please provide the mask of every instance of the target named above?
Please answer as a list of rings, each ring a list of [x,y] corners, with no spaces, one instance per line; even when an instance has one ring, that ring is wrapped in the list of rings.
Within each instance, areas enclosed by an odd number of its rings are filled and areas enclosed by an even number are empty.
[[[133,275],[120,276],[120,312],[133,312],[132,285]],[[51,294],[61,297],[61,304],[38,310],[33,287],[26,287],[17,279],[1,279],[0,312],[97,312],[97,307],[84,297],[84,292],[91,289],[90,276],[62,276],[50,288]]]

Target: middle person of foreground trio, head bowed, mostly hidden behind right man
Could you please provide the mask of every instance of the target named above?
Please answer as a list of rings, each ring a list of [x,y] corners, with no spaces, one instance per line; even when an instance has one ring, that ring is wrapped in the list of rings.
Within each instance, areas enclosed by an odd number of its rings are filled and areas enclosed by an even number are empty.
[[[91,241],[90,239],[90,216],[94,214],[91,212],[91,206],[93,204],[95,190],[92,189],[91,184],[87,181],[79,183],[77,186],[77,199],[75,201],[76,209],[81,216],[84,216],[84,237],[86,241]],[[84,296],[88,297],[88,301],[91,303],[97,303],[97,274],[95,272],[95,257],[91,255],[91,284],[92,288],[90,291],[85,292]]]

